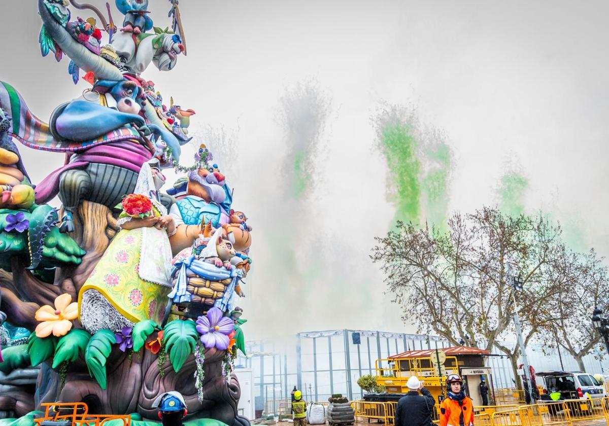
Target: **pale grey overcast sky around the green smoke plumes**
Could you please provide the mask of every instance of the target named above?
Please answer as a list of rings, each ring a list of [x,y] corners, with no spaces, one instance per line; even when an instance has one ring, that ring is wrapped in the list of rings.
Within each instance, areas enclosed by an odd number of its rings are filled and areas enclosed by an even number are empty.
[[[3,8],[0,77],[48,120],[89,85],[74,86],[68,59],[40,56],[35,3]],[[169,25],[169,2],[151,0],[149,9],[155,25]],[[233,173],[234,207],[254,227],[248,298],[239,302],[251,320],[248,338],[413,331],[382,295],[382,273],[368,259],[394,212],[370,123],[382,102],[414,105],[421,121],[445,132],[454,156],[451,211],[496,203],[506,165],[516,165],[530,184],[527,210],[577,223],[588,246],[609,254],[607,2],[181,0],[180,9],[188,57],[171,72],[151,66],[144,77],[166,100],[196,111],[197,144],[208,126],[224,127],[230,139],[221,160]],[[331,102],[323,155],[314,192],[284,211],[281,167],[290,147],[277,120],[280,99],[306,80]],[[63,164],[60,154],[21,153],[34,181]],[[306,214],[283,217],[295,211]],[[278,232],[277,223],[298,231]],[[305,284],[277,264],[269,241],[278,235],[294,248]]]

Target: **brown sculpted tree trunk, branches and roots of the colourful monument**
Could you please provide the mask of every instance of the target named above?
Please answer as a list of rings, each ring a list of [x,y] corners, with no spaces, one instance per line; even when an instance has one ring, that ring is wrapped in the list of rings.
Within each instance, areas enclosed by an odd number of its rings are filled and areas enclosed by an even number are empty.
[[[72,238],[86,250],[82,263],[77,267],[57,268],[54,284],[42,281],[27,270],[28,259],[13,257],[13,273],[0,271],[1,306],[15,326],[33,330],[38,322],[34,315],[44,304],[52,305],[55,297],[69,293],[77,300],[86,278],[118,232],[116,218],[110,209],[101,204],[83,201],[74,214]],[[74,321],[75,327],[80,327]],[[114,346],[108,357],[107,389],[102,389],[90,377],[85,361],[80,356],[68,366],[65,384],[61,387],[60,375],[51,369],[51,361],[41,366],[33,400],[33,392],[27,389],[5,389],[0,398],[0,410],[13,411],[22,416],[43,402],[86,402],[92,414],[139,413],[144,418],[156,419],[157,409],[152,403],[167,391],[180,392],[188,405],[189,418],[212,418],[231,426],[248,426],[249,422],[238,415],[237,407],[241,389],[236,375],[222,375],[222,359],[225,351],[208,349],[205,352],[205,380],[203,399],[197,398],[194,371],[194,355],[190,355],[179,372],[175,372],[169,359],[158,365],[157,355],[141,349],[129,357]],[[163,375],[161,375],[163,369]],[[30,389],[33,390],[33,389]]]

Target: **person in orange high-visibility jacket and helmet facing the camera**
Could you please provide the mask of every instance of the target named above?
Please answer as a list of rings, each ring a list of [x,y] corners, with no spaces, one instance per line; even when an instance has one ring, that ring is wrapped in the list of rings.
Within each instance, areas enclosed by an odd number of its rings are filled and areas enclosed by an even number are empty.
[[[458,374],[446,379],[448,396],[440,403],[440,426],[472,426],[474,405],[463,391],[463,380]]]

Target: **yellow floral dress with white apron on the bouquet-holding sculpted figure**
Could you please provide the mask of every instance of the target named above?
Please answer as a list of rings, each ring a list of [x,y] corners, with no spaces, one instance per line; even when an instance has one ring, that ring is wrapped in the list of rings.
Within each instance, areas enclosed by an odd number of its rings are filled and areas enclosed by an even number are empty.
[[[153,211],[161,215],[157,208]],[[79,314],[83,294],[96,290],[128,321],[152,319],[161,324],[172,288],[171,259],[165,229],[122,229],[80,289]]]

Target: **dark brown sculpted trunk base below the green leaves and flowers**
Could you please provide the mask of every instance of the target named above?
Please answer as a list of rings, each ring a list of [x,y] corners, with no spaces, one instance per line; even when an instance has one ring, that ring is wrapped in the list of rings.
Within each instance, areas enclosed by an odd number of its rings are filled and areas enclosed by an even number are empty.
[[[179,372],[175,372],[167,359],[163,365],[163,375],[158,365],[157,355],[141,349],[129,355],[113,347],[106,363],[107,388],[100,388],[97,382],[86,373],[82,358],[68,368],[65,386],[60,391],[60,377],[48,365],[40,372],[38,383],[41,388],[42,402],[78,402],[89,405],[91,414],[130,414],[139,413],[149,419],[157,417],[157,409],[152,403],[167,391],[178,391],[186,400],[189,418],[212,418],[228,425],[245,426],[247,419],[238,416],[237,406],[241,388],[236,375],[222,375],[222,359],[225,351],[207,349],[205,351],[205,380],[203,380],[203,399],[197,399],[194,386],[196,363],[190,355]]]

